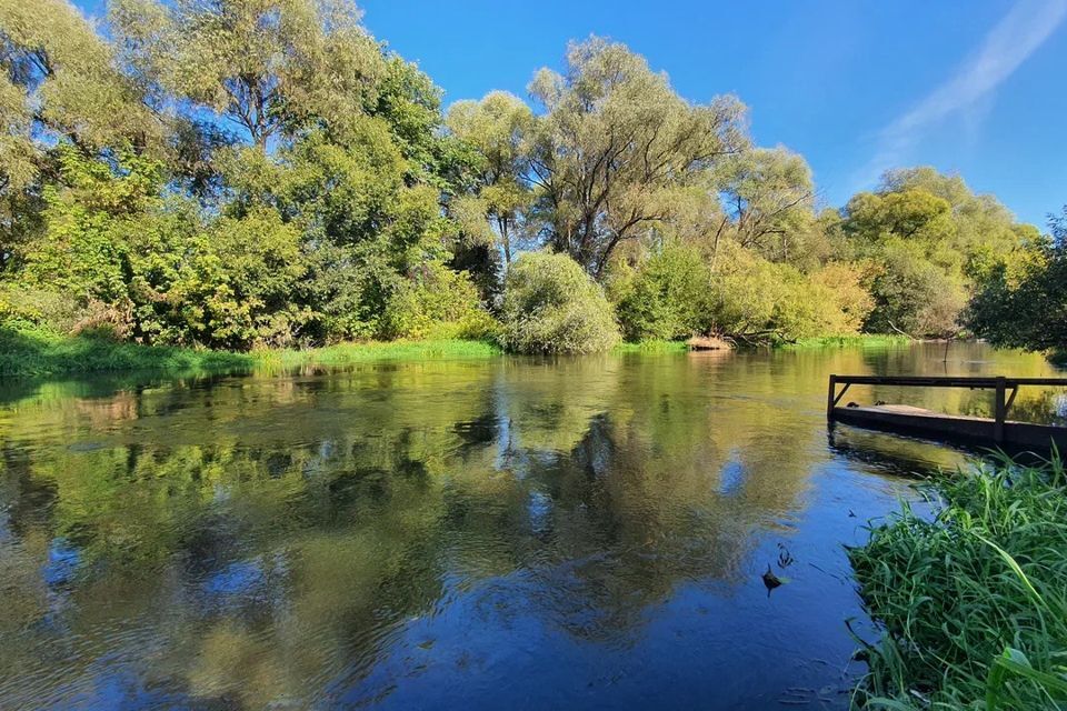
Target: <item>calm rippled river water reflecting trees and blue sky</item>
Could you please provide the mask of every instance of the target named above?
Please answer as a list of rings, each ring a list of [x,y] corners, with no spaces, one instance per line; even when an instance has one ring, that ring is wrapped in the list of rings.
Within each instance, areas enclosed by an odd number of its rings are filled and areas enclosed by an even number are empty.
[[[0,708],[846,708],[844,545],[964,455],[827,375],[1054,374],[944,352],[3,383]]]

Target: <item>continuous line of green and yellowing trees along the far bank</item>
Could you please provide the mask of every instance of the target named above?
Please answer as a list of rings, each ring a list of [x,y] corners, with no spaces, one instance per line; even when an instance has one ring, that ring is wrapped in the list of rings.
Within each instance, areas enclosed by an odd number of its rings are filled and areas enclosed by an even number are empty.
[[[917,168],[820,209],[737,98],[689,102],[599,38],[529,101],[447,111],[348,0],[112,0],[99,27],[0,0],[0,328],[526,351],[1067,331],[1016,318],[1064,280],[991,196]]]

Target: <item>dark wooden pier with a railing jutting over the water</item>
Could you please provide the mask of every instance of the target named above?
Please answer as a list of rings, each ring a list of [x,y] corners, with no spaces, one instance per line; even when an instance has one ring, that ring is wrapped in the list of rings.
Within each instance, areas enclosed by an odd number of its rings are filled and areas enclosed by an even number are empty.
[[[838,385],[842,385],[838,388]],[[838,407],[850,385],[913,388],[967,388],[994,391],[994,417],[944,414],[906,404],[856,404]],[[988,444],[1004,449],[1048,450],[1055,443],[1067,451],[1067,427],[1034,424],[1008,419],[1008,410],[1023,385],[1067,388],[1067,378],[830,375],[826,417],[868,429],[901,432],[940,440]]]

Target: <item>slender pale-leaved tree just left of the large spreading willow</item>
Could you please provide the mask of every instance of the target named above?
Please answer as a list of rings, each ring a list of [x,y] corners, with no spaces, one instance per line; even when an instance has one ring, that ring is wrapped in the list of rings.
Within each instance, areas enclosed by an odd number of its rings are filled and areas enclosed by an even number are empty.
[[[476,239],[498,241],[506,266],[511,263],[512,241],[531,202],[526,174],[532,123],[530,108],[505,91],[492,91],[481,101],[457,101],[446,119],[452,134],[477,154],[471,166],[473,194],[455,201],[457,217]]]

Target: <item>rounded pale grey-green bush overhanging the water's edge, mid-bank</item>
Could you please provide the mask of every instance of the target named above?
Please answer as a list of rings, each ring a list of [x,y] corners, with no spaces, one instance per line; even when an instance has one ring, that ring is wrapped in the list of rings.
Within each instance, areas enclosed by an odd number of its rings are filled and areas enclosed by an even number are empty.
[[[604,291],[566,254],[528,252],[505,281],[505,348],[522,353],[592,353],[619,341]]]

